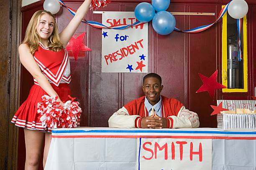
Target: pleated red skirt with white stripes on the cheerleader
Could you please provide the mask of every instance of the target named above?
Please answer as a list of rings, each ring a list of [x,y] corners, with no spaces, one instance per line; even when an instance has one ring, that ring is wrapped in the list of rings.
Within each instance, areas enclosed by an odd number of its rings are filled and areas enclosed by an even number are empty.
[[[57,92],[61,101],[70,100],[68,97],[70,95],[68,83],[60,83],[58,87],[51,83],[51,86]],[[37,103],[41,102],[43,95],[48,94],[39,85],[33,85],[27,100],[20,105],[11,122],[21,128],[51,132],[51,128],[44,128],[38,119]]]

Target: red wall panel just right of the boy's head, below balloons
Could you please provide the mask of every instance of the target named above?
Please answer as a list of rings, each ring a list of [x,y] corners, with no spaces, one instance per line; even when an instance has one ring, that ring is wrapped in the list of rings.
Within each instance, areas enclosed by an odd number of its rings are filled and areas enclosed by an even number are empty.
[[[186,5],[171,4],[168,11],[185,12]],[[176,27],[184,30],[186,16],[175,15]],[[155,34],[156,49],[154,61],[156,73],[162,77],[164,89],[162,95],[173,97],[185,102],[185,80],[187,61],[187,35],[182,32],[173,31],[169,35]]]

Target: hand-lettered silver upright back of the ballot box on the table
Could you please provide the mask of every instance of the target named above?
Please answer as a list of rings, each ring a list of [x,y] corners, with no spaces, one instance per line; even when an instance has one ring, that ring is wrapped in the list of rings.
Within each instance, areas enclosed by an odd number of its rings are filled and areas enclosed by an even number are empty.
[[[228,110],[256,110],[256,100],[217,100],[218,105],[220,102],[222,102],[222,107]]]

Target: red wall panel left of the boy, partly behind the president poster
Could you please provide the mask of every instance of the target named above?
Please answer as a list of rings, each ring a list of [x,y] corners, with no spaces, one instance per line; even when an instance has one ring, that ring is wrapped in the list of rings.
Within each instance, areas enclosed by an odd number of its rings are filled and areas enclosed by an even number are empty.
[[[110,3],[103,8],[106,11],[120,11],[120,3]],[[101,14],[92,14],[93,21],[102,23]],[[118,92],[120,89],[120,73],[101,72],[101,38],[102,31],[90,28],[91,57],[90,57],[90,114],[89,125],[92,127],[108,127],[108,118],[118,110]]]

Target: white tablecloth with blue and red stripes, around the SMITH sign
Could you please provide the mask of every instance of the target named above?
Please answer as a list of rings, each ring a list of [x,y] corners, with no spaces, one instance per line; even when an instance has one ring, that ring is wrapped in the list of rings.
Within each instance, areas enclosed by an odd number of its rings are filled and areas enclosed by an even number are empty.
[[[212,139],[212,170],[256,170],[256,132],[216,128],[75,128],[52,131],[45,170],[136,170],[138,138]],[[188,170],[191,168],[188,167]]]

